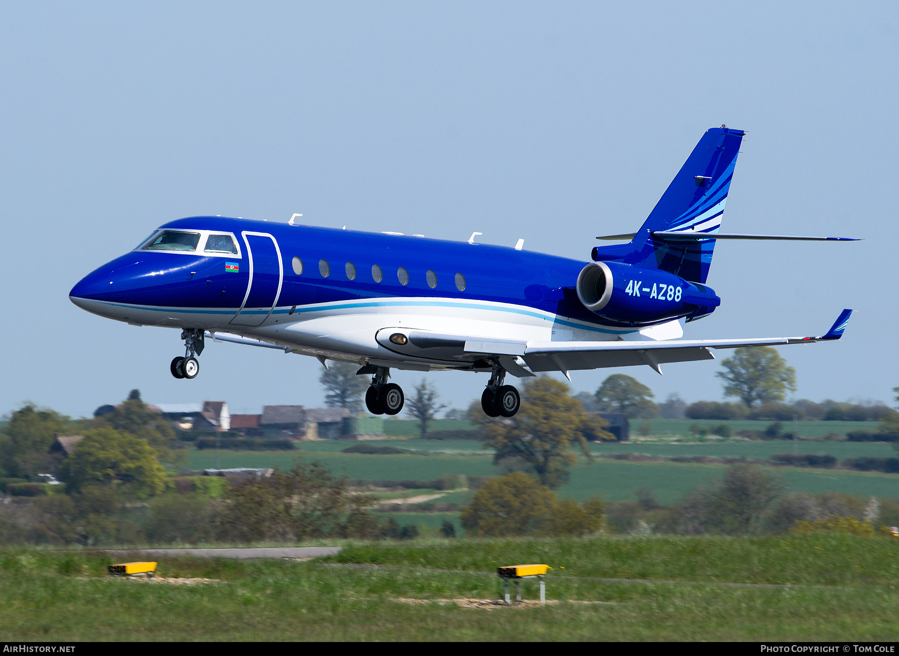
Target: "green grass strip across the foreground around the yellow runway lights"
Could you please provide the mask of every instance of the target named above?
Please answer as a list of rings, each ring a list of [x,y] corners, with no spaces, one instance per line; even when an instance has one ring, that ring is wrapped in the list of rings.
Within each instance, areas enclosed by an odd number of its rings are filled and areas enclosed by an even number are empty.
[[[303,563],[159,564],[160,576],[223,581],[196,586],[110,580],[103,554],[6,549],[0,634],[10,642],[895,641],[897,547],[850,536],[429,539],[351,543]],[[491,572],[513,562],[554,567],[547,598],[558,603],[484,611],[396,601],[498,598]],[[525,581],[525,598],[536,588]]]

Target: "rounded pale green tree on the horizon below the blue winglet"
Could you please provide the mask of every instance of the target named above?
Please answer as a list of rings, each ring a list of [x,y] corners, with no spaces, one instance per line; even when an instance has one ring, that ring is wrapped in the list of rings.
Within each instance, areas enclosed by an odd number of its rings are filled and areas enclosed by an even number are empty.
[[[725,380],[725,396],[735,396],[750,408],[783,401],[787,390],[796,391],[796,369],[770,346],[734,350],[733,357],[721,360],[721,366],[725,371],[715,375]]]

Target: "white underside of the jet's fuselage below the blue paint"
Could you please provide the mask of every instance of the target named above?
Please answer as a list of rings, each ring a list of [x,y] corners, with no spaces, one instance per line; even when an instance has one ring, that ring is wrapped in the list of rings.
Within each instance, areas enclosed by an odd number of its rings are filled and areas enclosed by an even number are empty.
[[[369,359],[396,368],[471,368],[458,359],[415,358],[378,343],[384,328],[474,336],[498,341],[619,341],[636,330],[589,324],[529,306],[457,298],[367,298],[308,306],[237,308],[135,306],[72,297],[95,315],[132,325],[200,328],[269,342],[287,352],[346,359]],[[258,324],[258,325],[252,325]]]

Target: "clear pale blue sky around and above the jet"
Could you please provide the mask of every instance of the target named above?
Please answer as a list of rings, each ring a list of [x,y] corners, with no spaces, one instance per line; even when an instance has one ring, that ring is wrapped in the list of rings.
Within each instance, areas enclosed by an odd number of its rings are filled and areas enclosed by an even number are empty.
[[[482,241],[589,259],[644,220],[705,129],[748,130],[690,338],[781,349],[797,396],[890,400],[897,5],[4,3],[0,412],[145,400],[319,405],[314,359],[89,315],[72,285],[177,217],[221,214]],[[573,281],[574,282],[574,281]],[[715,362],[625,368],[659,400],[717,399]],[[575,372],[593,391],[616,370]],[[422,375],[398,373],[407,388]],[[430,375],[464,405],[486,377]],[[483,379],[482,379],[483,378]]]

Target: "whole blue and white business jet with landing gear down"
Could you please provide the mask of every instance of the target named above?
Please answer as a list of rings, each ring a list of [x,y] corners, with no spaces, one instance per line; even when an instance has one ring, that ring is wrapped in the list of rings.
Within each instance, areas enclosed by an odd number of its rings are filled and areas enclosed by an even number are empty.
[[[721,303],[706,285],[718,239],[855,241],[718,232],[742,130],[709,129],[639,231],[592,249],[592,262],[512,247],[227,217],[156,228],[85,276],[76,306],[132,325],[181,328],[176,378],[196,377],[205,340],[360,365],[370,412],[396,414],[390,368],[489,372],[484,412],[521,400],[505,375],[714,359],[711,349],[838,340],[679,340]]]

